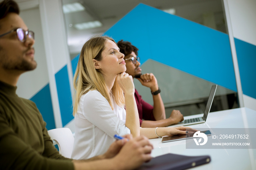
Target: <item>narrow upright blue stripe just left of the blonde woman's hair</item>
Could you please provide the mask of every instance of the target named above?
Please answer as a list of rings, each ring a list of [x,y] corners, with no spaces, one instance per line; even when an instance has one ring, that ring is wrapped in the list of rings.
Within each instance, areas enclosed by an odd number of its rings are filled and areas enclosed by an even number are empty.
[[[72,97],[68,80],[68,69],[65,65],[55,74],[57,93],[59,98],[62,125],[65,126],[74,117],[72,115]]]

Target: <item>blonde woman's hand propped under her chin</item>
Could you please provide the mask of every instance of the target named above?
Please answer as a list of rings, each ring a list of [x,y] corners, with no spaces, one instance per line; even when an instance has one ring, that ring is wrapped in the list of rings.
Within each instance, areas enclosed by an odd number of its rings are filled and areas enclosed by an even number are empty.
[[[124,94],[134,94],[134,84],[132,76],[129,76],[128,73],[120,73],[116,76],[117,82],[121,89],[124,91]]]

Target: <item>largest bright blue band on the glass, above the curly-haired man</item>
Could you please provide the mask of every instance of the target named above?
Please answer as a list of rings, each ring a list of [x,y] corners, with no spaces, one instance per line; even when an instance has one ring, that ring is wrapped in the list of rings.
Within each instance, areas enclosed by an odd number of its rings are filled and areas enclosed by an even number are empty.
[[[227,34],[139,4],[105,35],[138,47],[141,63],[153,59],[237,91]]]

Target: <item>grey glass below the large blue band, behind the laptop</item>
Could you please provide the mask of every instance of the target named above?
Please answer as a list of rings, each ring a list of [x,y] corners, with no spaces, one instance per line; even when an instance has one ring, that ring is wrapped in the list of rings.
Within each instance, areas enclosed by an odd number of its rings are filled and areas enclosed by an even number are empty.
[[[210,94],[212,82],[182,72],[170,66],[148,59],[141,66],[143,73],[154,73],[161,88],[166,117],[172,110],[180,110],[184,116],[203,113]],[[143,100],[153,105],[150,89],[134,80],[135,88]],[[218,85],[210,112],[238,108],[237,93]]]

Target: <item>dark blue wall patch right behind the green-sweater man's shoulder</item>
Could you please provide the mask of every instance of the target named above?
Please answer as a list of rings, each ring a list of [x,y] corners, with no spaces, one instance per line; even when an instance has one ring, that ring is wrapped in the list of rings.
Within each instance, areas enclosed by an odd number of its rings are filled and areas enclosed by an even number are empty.
[[[37,105],[38,110],[41,112],[43,119],[46,122],[46,128],[48,130],[54,129],[55,123],[49,83],[38,93],[36,93],[30,100]]]

